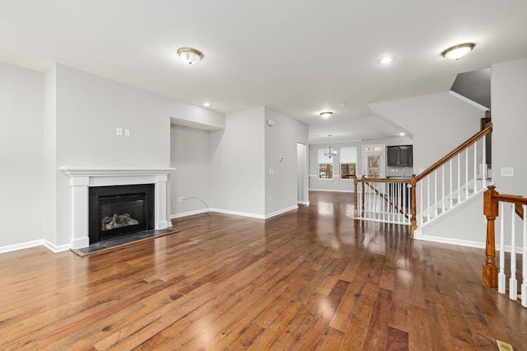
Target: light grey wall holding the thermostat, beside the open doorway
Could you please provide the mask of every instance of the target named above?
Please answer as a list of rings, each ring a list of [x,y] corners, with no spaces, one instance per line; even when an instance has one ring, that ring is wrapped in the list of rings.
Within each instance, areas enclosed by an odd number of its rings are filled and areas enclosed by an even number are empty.
[[[274,126],[268,126],[267,119],[273,119]],[[269,215],[297,205],[297,143],[308,143],[308,126],[268,107],[261,122],[265,125],[265,199]],[[274,174],[269,174],[270,168]]]

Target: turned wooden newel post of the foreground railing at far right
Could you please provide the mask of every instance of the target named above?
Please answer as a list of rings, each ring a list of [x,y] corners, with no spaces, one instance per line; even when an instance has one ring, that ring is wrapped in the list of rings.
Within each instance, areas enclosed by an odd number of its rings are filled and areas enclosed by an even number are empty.
[[[487,240],[486,240],[486,259],[483,265],[483,285],[488,288],[497,288],[497,267],[494,263],[496,256],[494,244],[494,220],[498,216],[498,201],[495,199],[499,193],[495,191],[494,185],[489,185],[488,190],[483,194],[483,213],[487,218]]]

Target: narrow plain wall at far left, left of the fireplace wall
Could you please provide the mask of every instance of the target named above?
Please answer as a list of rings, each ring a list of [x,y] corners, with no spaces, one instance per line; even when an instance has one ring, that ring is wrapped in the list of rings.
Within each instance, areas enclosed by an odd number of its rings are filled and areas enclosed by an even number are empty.
[[[1,62],[0,77],[0,246],[8,246],[42,238],[44,77]]]

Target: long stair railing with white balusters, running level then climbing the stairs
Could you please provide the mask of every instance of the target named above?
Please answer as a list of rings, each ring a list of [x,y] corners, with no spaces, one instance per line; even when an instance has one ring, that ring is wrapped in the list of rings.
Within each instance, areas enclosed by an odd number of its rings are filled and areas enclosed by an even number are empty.
[[[410,224],[414,237],[420,226],[484,191],[486,140],[492,129],[491,124],[479,131],[411,179],[354,178],[355,218]]]

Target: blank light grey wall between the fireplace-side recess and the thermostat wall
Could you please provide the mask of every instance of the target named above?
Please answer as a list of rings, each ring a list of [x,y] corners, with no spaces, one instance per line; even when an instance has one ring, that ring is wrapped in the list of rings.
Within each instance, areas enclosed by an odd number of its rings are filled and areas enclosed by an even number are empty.
[[[210,132],[214,208],[265,216],[264,117],[264,107],[226,114],[225,129]]]

